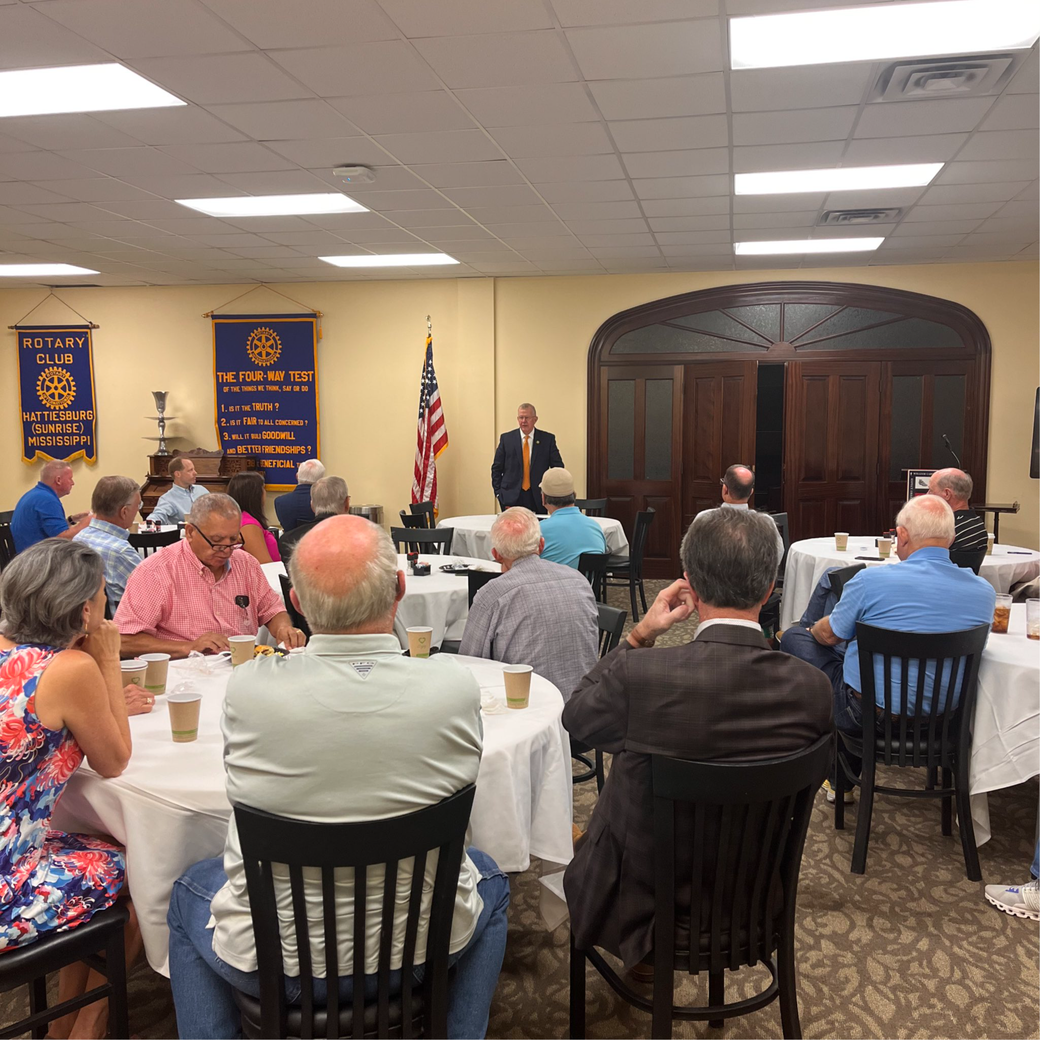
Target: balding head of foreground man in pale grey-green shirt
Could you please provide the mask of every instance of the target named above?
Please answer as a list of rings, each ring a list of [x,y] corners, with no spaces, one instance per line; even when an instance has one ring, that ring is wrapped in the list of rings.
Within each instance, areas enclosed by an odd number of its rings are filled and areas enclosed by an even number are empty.
[[[387,532],[359,516],[335,516],[308,531],[289,562],[293,596],[311,631],[393,631],[404,576]]]

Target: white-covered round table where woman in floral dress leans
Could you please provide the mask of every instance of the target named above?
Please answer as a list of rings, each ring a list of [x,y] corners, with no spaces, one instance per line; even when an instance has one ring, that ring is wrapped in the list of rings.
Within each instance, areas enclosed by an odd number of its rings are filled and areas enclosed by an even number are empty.
[[[529,706],[512,711],[504,708],[504,666],[457,659],[480,684],[484,754],[470,816],[472,844],[510,873],[527,869],[531,856],[569,863],[571,753],[560,692],[534,675]],[[230,677],[227,659],[173,661],[167,688],[190,682],[203,695],[199,739],[174,744],[165,698],[157,698],[150,714],[130,719],[133,756],[123,775],[106,780],[84,762],[53,816],[58,830],[109,834],[125,846],[145,952],[161,974],[170,973],[166,910],[174,882],[192,863],[224,852],[231,805],[225,794],[220,714]],[[422,691],[415,695],[421,697]],[[500,712],[489,713],[492,702],[502,705]]]

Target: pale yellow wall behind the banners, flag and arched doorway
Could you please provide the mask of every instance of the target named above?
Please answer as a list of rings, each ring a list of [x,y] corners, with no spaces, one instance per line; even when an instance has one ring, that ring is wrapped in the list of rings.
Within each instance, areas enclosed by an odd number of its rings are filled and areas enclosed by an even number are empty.
[[[828,267],[818,270],[701,271],[575,278],[516,278],[280,286],[324,313],[319,344],[321,456],[344,476],[354,501],[380,502],[387,517],[410,497],[418,380],[425,316],[434,346],[450,446],[441,457],[442,516],[490,512],[489,467],[499,433],[521,400],[538,407],[556,434],[579,491],[586,475],[589,343],[612,314],[661,296],[768,280],[832,280],[886,285],[956,301],[985,322],[993,342],[988,497],[1017,498],[1004,541],[1040,546],[1040,482],[1030,480],[1033,406],[1040,386],[1040,263]],[[98,476],[144,477],[155,432],[152,389],[170,391],[175,447],[215,447],[208,320],[233,286],[70,289],[61,293],[97,321],[98,464],[76,463],[69,512],[89,504]],[[44,290],[0,290],[0,326],[20,318]],[[284,312],[259,291],[236,304]],[[34,321],[67,320],[53,301]],[[75,320],[73,317],[72,320]],[[0,459],[11,508],[38,467],[22,464],[15,336],[0,348]],[[3,419],[3,416],[7,416]]]

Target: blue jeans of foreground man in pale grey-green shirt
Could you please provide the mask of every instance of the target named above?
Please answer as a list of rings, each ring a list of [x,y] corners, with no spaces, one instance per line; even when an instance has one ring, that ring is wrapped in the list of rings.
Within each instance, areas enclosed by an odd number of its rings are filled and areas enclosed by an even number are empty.
[[[456,965],[448,993],[448,1036],[451,1040],[483,1040],[488,1032],[488,1014],[498,984],[498,973],[505,955],[505,933],[510,906],[510,879],[498,864],[478,849],[469,850],[469,858],[480,873],[476,890],[484,909],[476,929],[466,946],[451,955]],[[220,859],[196,863],[174,884],[170,898],[170,983],[177,1010],[177,1035],[180,1040],[239,1040],[241,1016],[232,991],[239,989],[259,998],[256,971],[239,971],[213,953],[213,931],[207,929],[213,896],[227,882]],[[415,968],[415,981],[421,982],[423,965]],[[316,979],[315,1002],[326,998],[324,980]],[[300,979],[286,976],[286,996],[290,1004],[300,1000]],[[400,989],[400,970],[391,973],[391,991]],[[365,980],[365,993],[375,997],[376,976]],[[353,980],[341,979],[340,998],[349,1000]]]

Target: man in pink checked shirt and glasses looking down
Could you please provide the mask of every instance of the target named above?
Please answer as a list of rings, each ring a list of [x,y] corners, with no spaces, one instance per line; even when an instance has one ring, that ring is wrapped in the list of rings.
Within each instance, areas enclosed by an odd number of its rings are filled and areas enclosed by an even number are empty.
[[[188,516],[184,538],[134,569],[115,612],[124,657],[228,649],[229,635],[266,625],[276,643],[301,647],[282,598],[257,561],[241,551],[241,511],[228,495],[206,495]]]

